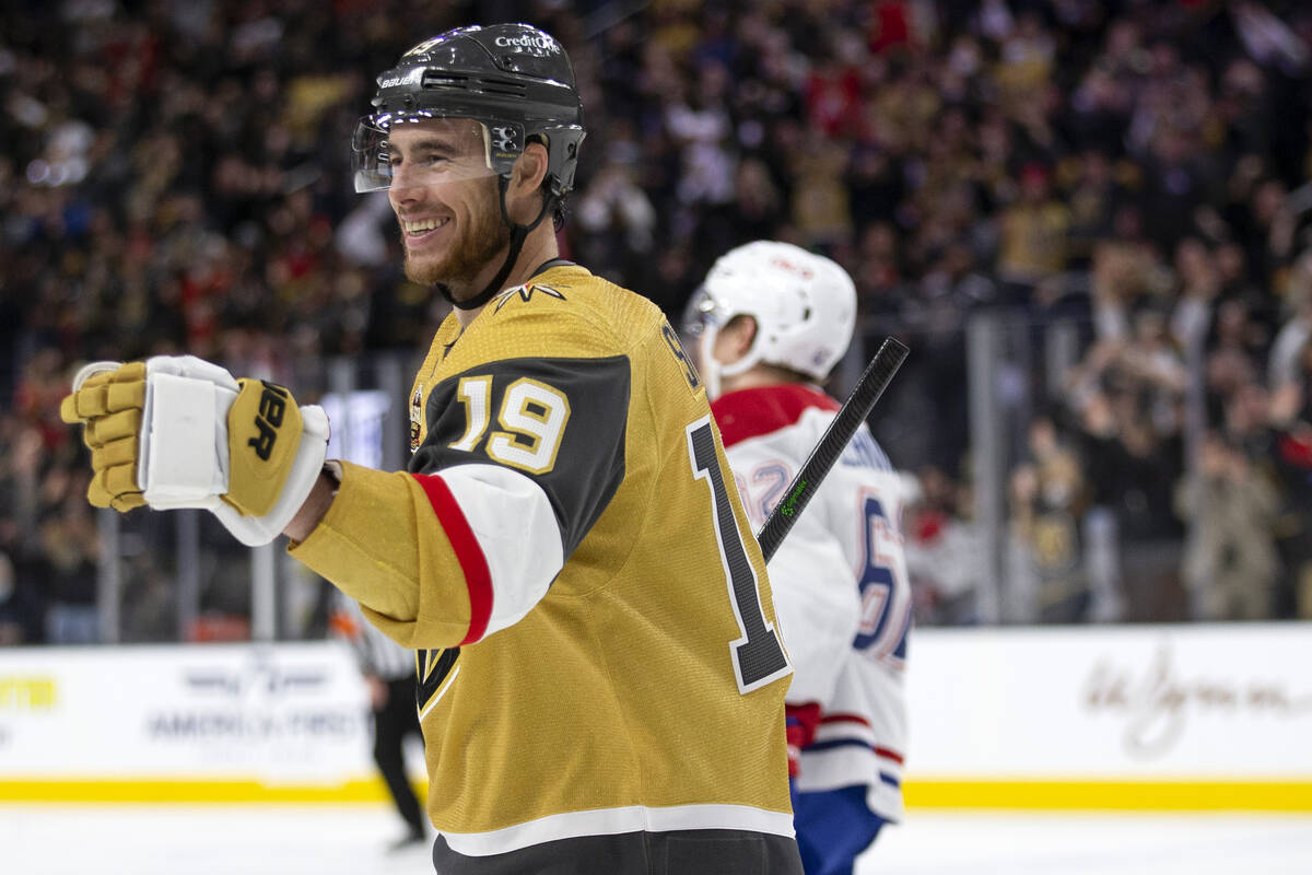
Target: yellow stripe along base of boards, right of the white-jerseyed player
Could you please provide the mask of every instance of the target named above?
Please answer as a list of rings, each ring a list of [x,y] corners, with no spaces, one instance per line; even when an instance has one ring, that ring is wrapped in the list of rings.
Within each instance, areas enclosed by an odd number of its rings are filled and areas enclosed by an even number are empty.
[[[1312,781],[908,781],[908,808],[1312,812]]]

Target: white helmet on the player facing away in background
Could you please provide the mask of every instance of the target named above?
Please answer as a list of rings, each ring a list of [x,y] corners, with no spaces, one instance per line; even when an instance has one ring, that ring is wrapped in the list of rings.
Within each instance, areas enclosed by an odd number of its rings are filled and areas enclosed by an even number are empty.
[[[720,256],[694,296],[690,328],[701,333],[707,392],[719,395],[720,375],[741,374],[757,362],[823,380],[851,342],[857,290],[837,264],[791,243],[756,240]],[[756,320],[752,349],[719,365],[715,337],[733,316]]]

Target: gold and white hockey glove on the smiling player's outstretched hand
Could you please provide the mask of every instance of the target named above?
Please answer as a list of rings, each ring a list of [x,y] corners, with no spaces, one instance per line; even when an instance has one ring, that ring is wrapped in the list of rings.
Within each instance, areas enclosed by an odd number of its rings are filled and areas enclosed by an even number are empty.
[[[252,547],[291,522],[328,449],[323,408],[194,356],[88,365],[59,413],[85,425],[93,505],[203,508]]]

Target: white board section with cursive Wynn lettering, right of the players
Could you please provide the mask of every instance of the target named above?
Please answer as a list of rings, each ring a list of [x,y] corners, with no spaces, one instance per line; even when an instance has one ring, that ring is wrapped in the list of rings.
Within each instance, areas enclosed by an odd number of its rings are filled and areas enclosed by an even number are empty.
[[[922,630],[918,807],[1312,811],[1312,624]]]

